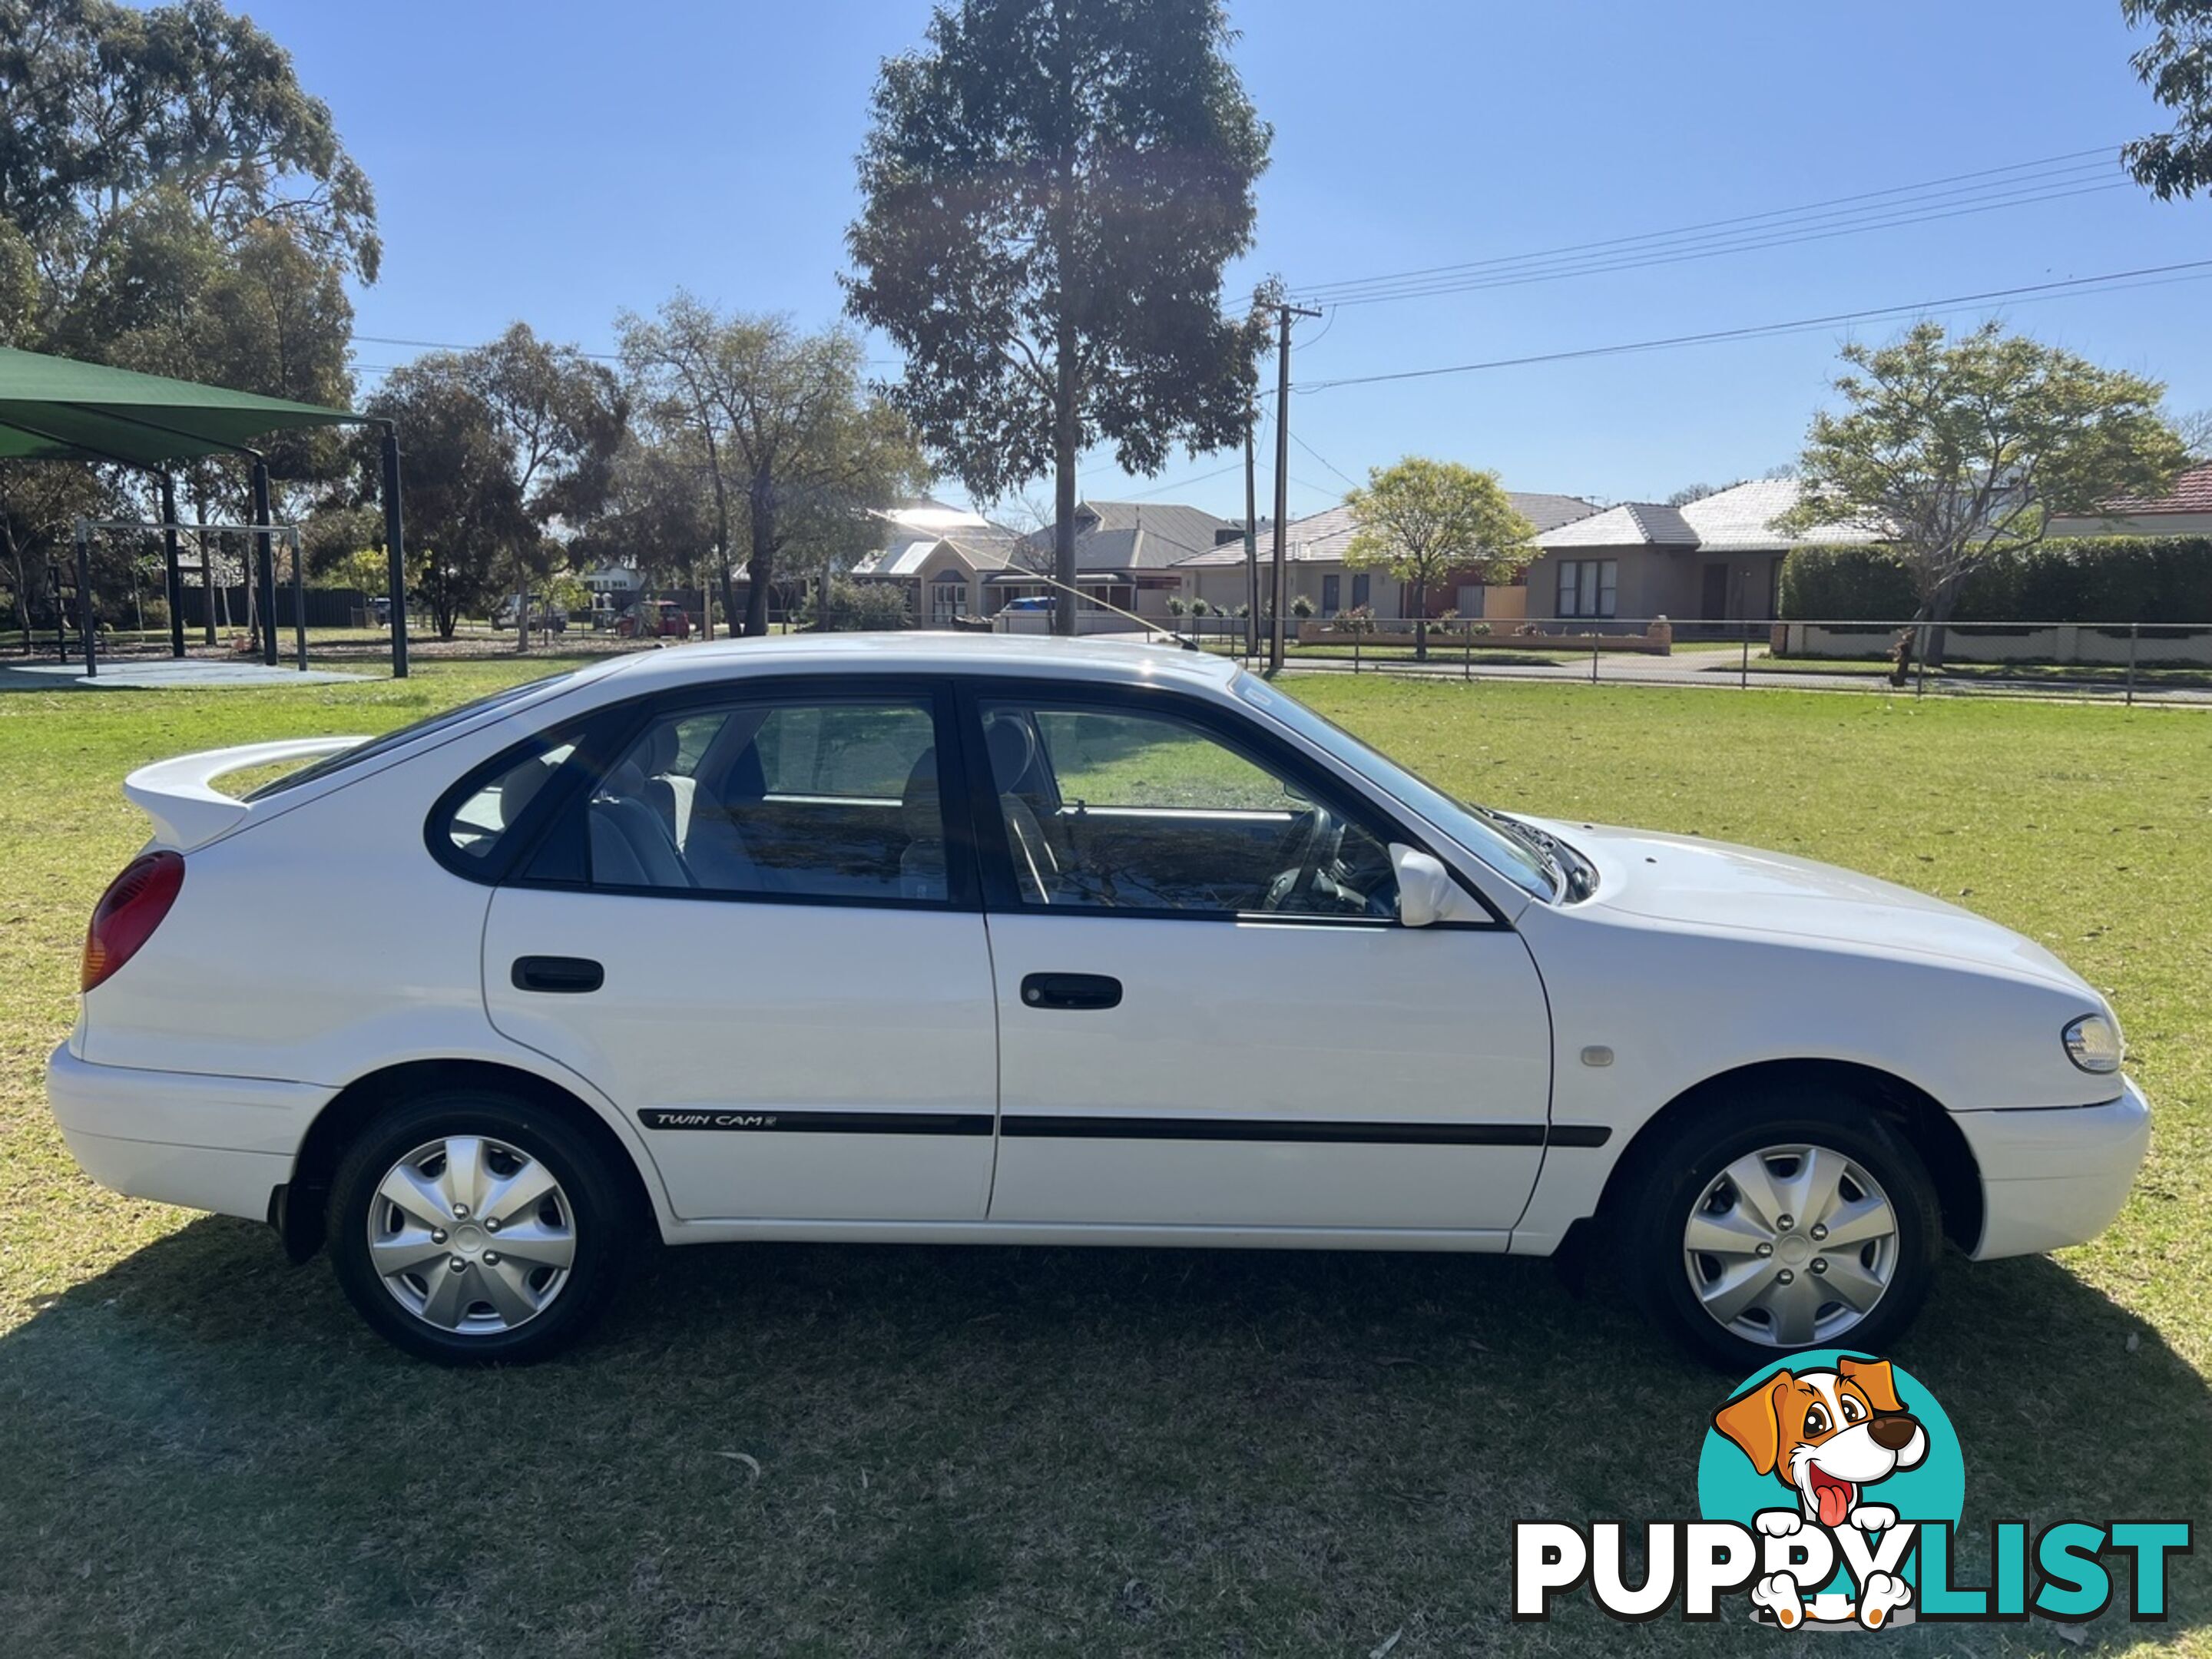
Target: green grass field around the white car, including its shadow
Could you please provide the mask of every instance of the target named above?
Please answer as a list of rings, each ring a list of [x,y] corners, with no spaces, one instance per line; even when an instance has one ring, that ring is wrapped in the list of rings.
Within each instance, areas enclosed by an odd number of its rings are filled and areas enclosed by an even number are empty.
[[[670,1252],[602,1338],[436,1371],[263,1230],[115,1199],[40,1097],[150,757],[378,730],[405,686],[0,695],[0,1630],[20,1655],[1807,1652],[1728,1621],[1506,1617],[1515,1515],[1692,1513],[1723,1378],[1544,1263],[1385,1254]],[[1438,783],[1960,898],[2115,998],[2157,1102],[2119,1225],[1949,1263],[1896,1358],[1993,1517],[2212,1520],[2212,723],[1767,692],[1290,681]],[[312,918],[301,918],[312,929]],[[316,940],[343,949],[343,940]],[[896,964],[885,964],[896,978]],[[741,1062],[743,1033],[732,1031]],[[1891,1632],[2212,1652],[2174,1621]]]

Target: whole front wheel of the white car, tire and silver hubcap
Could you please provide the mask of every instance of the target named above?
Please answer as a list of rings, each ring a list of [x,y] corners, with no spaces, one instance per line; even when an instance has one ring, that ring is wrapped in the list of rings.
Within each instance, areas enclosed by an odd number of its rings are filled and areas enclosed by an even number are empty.
[[[1905,1135],[1849,1097],[1792,1091],[1661,1133],[1624,1232],[1644,1307],[1739,1374],[1812,1347],[1880,1352],[1942,1248],[1936,1183]]]

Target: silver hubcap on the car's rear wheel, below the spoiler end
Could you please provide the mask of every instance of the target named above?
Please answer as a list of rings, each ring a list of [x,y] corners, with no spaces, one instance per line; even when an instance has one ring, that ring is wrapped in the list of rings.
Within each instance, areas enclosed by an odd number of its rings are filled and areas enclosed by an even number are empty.
[[[575,1263],[575,1210],[544,1164],[507,1141],[447,1135],[376,1186],[369,1261],[425,1325],[498,1336],[560,1296]]]

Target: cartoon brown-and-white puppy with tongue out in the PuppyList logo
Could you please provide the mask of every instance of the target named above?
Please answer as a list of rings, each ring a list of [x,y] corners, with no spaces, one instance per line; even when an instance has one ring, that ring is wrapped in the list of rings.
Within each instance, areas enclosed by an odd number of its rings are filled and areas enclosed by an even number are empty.
[[[1807,1524],[1865,1533],[1896,1526],[1898,1511],[1865,1502],[1865,1491],[1929,1455],[1927,1431],[1898,1400],[1889,1360],[1840,1356],[1834,1371],[1776,1371],[1723,1405],[1712,1427],[1761,1475],[1774,1475],[1796,1495],[1794,1509],[1754,1515],[1767,1537],[1790,1537]],[[1770,1573],[1752,1586],[1752,1601],[1790,1630],[1805,1617],[1803,1590],[1790,1573]],[[1858,1588],[1856,1617],[1874,1630],[1911,1599],[1905,1579],[1874,1573]]]

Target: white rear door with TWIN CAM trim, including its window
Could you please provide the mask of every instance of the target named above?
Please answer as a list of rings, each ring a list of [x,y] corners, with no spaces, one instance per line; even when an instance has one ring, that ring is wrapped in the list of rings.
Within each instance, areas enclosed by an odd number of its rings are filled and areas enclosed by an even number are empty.
[[[650,714],[493,896],[491,1022],[639,1124],[679,1217],[982,1217],[991,956],[940,719],[927,688]]]

